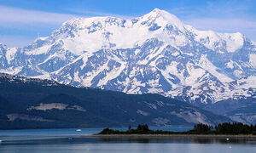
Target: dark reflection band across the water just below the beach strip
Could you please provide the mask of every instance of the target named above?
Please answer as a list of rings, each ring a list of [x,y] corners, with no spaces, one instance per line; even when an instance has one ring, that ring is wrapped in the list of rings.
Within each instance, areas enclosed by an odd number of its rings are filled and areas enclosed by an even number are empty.
[[[23,139],[6,140],[2,145],[36,145],[36,144],[117,144],[117,143],[170,143],[170,144],[253,144],[256,145],[256,139],[236,139],[230,138],[81,138],[81,137],[50,137],[44,139]]]

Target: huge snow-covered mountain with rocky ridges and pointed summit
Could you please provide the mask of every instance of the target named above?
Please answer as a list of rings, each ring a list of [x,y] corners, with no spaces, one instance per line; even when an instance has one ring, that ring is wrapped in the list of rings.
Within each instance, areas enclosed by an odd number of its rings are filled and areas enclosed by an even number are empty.
[[[198,31],[158,8],[131,20],[68,20],[25,48],[0,45],[0,59],[1,71],[15,75],[190,102],[247,97],[256,86],[254,42],[239,32]]]

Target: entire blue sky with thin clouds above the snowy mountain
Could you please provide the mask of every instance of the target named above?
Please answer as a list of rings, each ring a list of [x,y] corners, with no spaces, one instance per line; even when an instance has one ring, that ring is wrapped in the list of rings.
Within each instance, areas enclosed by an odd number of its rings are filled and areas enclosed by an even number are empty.
[[[154,8],[199,30],[240,31],[256,42],[256,0],[0,0],[0,42],[23,47],[76,17],[133,18]]]

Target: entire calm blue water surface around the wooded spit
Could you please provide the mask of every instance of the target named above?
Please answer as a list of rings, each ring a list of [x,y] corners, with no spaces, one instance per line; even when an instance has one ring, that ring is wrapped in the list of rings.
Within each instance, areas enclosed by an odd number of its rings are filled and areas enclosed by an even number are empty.
[[[158,128],[184,131],[191,127]],[[126,130],[126,128],[118,128]],[[156,128],[154,128],[156,129]],[[0,153],[84,153],[84,152],[177,152],[177,153],[251,153],[255,140],[230,139],[98,139],[80,135],[98,133],[102,128],[40,129],[0,131]]]

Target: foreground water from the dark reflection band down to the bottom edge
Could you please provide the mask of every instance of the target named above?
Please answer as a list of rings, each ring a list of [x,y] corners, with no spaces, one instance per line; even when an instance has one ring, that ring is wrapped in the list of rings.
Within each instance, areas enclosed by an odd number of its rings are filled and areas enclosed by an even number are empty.
[[[241,153],[255,152],[255,139],[195,138],[81,138],[50,137],[44,139],[6,140],[1,153]]]

